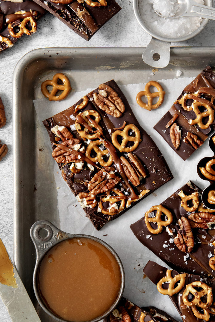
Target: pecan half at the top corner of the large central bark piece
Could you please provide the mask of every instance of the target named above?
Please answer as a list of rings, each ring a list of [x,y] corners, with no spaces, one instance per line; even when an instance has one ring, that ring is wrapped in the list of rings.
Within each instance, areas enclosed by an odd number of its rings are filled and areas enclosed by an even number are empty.
[[[120,118],[125,111],[125,105],[117,92],[109,85],[99,85],[99,93],[93,93],[93,99],[96,105],[107,114]]]

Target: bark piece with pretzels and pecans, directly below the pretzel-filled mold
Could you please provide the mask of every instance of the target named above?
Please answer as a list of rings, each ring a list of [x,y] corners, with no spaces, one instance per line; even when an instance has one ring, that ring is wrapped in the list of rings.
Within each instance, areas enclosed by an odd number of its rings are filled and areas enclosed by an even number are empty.
[[[137,239],[173,269],[215,277],[215,213],[188,182],[130,227]]]

